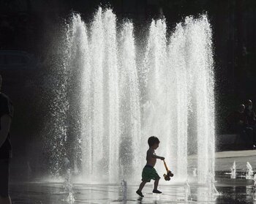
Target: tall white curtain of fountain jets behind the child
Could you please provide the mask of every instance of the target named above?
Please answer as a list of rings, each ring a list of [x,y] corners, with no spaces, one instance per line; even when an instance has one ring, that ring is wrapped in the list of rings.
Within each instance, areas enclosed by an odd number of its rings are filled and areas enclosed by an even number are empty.
[[[68,122],[53,125],[63,134],[53,135],[51,165],[67,156],[80,168],[80,181],[139,181],[148,136],[157,135],[158,154],[171,164],[177,181],[187,175],[192,149],[197,181],[205,184],[208,172],[214,175],[214,72],[206,15],[186,18],[172,34],[165,19],[152,20],[140,47],[132,22],[117,29],[116,21],[112,10],[99,7],[91,23],[74,14],[67,24],[61,43],[67,80],[58,92],[64,97],[56,97],[65,100],[65,109],[55,108],[53,115],[59,111],[63,120],[72,119],[75,131]],[[76,78],[72,88],[69,78]],[[75,151],[68,151],[67,143]],[[61,168],[52,168],[53,174]]]

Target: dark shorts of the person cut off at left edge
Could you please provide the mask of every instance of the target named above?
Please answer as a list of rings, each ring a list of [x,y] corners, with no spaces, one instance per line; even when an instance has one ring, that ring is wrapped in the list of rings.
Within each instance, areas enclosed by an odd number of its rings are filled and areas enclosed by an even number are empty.
[[[9,196],[9,159],[0,159],[0,196]]]

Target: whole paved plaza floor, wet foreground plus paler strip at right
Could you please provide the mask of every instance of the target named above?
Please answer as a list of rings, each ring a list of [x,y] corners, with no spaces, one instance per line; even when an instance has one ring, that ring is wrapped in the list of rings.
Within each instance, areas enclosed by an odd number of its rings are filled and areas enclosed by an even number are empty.
[[[233,161],[236,160],[240,175],[237,179],[230,179],[229,173]],[[127,189],[121,190],[121,185],[105,184],[73,184],[72,194],[67,193],[62,183],[31,182],[10,184],[12,203],[24,204],[59,204],[59,203],[255,203],[254,182],[246,180],[243,173],[246,171],[246,162],[252,168],[256,167],[256,151],[226,151],[216,154],[216,187],[219,194],[214,194],[208,186],[200,186],[190,182],[191,197],[185,201],[184,184],[162,185],[159,189],[163,194],[152,194],[153,182],[146,184],[143,189],[145,197],[135,194],[137,184],[127,183]],[[193,156],[189,157],[189,165],[195,163]],[[74,198],[74,200],[70,199]]]

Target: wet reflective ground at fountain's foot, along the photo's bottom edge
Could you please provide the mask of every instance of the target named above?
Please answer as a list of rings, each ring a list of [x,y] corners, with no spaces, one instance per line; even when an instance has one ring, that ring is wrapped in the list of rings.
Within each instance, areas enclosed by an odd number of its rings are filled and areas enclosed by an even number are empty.
[[[256,203],[252,184],[225,181],[217,184],[220,195],[212,194],[206,186],[190,185],[192,200],[184,201],[184,186],[159,186],[163,194],[152,194],[152,184],[143,189],[145,197],[139,199],[135,194],[138,186],[128,184],[127,191],[121,191],[115,185],[86,185],[73,186],[75,202],[67,201],[68,194],[64,192],[63,184],[58,183],[29,183],[11,184],[10,194],[12,203],[25,204],[59,204],[59,203]]]

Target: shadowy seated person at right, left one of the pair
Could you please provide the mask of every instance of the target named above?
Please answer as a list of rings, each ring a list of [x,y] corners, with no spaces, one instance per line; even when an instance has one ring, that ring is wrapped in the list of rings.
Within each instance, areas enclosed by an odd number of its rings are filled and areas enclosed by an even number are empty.
[[[252,128],[248,126],[248,121],[244,113],[245,106],[239,105],[238,110],[227,116],[227,124],[231,132],[240,135],[246,142],[246,148],[253,148]]]

